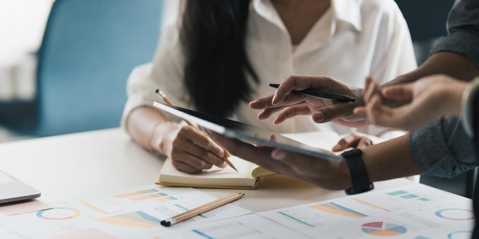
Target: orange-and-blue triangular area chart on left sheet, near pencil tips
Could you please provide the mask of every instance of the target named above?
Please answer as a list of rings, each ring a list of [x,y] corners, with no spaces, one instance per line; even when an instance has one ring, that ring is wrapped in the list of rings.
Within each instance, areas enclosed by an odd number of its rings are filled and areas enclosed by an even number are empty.
[[[122,225],[129,227],[157,227],[160,224],[161,220],[150,216],[142,211],[138,212],[129,212],[125,214],[120,214],[116,216],[108,216],[102,219],[94,219],[102,223],[109,223],[114,225]]]

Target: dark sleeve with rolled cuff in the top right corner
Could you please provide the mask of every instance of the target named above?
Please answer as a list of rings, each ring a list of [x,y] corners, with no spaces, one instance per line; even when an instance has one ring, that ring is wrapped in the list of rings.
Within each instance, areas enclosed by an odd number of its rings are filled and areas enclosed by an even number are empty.
[[[479,1],[456,0],[449,13],[448,36],[441,38],[430,54],[450,51],[479,66]]]

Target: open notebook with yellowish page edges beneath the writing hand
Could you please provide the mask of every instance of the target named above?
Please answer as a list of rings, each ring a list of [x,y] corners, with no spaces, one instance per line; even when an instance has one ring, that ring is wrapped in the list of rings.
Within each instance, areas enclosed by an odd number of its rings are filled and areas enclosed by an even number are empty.
[[[328,150],[331,150],[331,147],[340,139],[336,132],[325,131],[284,134],[284,136],[312,147],[321,147]],[[275,174],[237,156],[231,156],[229,160],[235,165],[238,172],[231,167],[221,169],[213,166],[213,168],[205,170],[203,173],[188,174],[175,169],[171,159],[167,158],[159,171],[156,183],[165,186],[193,188],[256,189],[261,178]]]

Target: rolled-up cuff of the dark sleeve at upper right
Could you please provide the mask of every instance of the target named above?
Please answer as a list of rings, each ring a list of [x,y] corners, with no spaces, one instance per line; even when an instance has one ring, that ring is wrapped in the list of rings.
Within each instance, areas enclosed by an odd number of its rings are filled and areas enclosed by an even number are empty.
[[[479,66],[479,36],[465,30],[452,31],[441,38],[430,51],[430,55],[441,51],[449,51],[469,58]]]

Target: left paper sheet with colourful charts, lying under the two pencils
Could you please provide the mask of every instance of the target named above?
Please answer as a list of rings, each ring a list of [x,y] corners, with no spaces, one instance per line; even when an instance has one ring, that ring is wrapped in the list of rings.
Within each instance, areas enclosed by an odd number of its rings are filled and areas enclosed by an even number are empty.
[[[98,197],[49,203],[51,209],[0,217],[2,234],[18,238],[68,238],[83,234],[124,238],[164,231],[159,222],[216,199],[193,188],[143,186]],[[232,204],[196,216],[174,228],[249,214]]]

